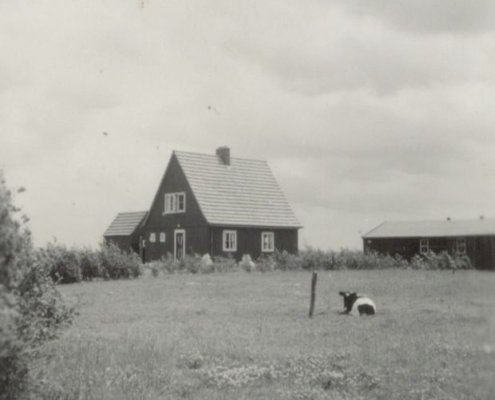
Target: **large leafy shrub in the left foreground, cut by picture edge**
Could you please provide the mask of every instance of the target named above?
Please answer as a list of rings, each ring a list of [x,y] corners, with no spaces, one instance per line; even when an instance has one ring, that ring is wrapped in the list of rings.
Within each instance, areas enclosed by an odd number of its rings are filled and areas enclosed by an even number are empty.
[[[69,323],[50,269],[34,253],[27,218],[18,217],[0,173],[0,399],[26,387],[29,352]]]

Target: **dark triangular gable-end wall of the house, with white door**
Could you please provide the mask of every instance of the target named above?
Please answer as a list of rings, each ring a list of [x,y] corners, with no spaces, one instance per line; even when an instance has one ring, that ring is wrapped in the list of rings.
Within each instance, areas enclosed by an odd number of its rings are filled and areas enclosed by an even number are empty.
[[[184,213],[163,214],[165,193],[185,192]],[[209,249],[209,229],[191,187],[177,161],[172,155],[167,170],[151,206],[149,217],[142,229],[145,238],[145,260],[159,259],[167,253],[174,253],[174,230],[186,231],[186,252],[204,254]],[[150,233],[156,233],[156,242],[150,242]],[[159,241],[159,233],[165,232],[166,241]]]

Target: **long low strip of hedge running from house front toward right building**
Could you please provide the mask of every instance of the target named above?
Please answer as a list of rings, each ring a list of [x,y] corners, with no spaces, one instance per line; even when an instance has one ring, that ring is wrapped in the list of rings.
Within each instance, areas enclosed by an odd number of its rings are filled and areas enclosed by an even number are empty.
[[[159,261],[147,264],[153,276],[160,272],[189,272],[211,273],[230,271],[290,271],[290,270],[359,270],[359,269],[472,269],[473,266],[467,256],[451,256],[447,252],[440,254],[429,253],[424,256],[415,256],[411,260],[396,255],[380,255],[377,253],[365,254],[359,250],[340,251],[319,250],[306,248],[299,254],[289,254],[286,251],[275,251],[272,255],[265,255],[253,261],[244,256],[240,262],[232,257],[214,257],[209,255],[188,255],[180,261],[174,261],[168,254]]]

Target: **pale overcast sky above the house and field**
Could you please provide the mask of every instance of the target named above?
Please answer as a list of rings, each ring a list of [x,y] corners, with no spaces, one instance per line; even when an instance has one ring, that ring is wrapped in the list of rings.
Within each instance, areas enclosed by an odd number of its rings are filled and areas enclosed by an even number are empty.
[[[147,210],[174,149],[267,160],[300,246],[495,217],[493,0],[2,0],[0,169],[36,245]]]

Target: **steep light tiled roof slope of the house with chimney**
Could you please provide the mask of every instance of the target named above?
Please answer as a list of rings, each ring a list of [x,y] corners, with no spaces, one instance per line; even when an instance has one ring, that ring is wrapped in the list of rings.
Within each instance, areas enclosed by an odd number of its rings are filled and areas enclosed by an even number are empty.
[[[299,228],[266,161],[174,151],[208,223]]]

